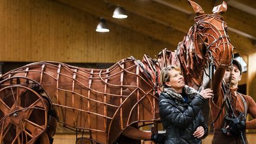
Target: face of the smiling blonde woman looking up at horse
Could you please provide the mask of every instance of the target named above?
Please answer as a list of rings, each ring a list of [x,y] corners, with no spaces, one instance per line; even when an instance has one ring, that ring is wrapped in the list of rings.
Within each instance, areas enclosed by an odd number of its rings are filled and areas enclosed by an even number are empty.
[[[169,71],[169,75],[170,79],[169,82],[166,82],[166,85],[177,91],[185,86],[184,77],[180,71],[172,69],[171,71]]]

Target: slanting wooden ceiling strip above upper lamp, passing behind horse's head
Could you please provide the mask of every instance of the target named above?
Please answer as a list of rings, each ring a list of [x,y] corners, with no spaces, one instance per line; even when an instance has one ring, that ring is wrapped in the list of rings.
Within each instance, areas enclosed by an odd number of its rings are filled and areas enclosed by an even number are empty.
[[[193,21],[188,20],[188,14],[184,14],[183,12],[177,11],[177,9],[169,8],[166,5],[159,4],[155,1],[107,1],[114,5],[120,5],[126,9],[129,9],[129,11],[132,11],[138,15],[142,15],[143,17],[171,25],[172,27],[181,31],[188,31],[188,28],[194,24]],[[229,31],[229,36],[233,46],[237,47],[239,50],[250,53],[255,52],[256,49],[254,44],[252,44],[251,39],[233,33],[232,31]]]

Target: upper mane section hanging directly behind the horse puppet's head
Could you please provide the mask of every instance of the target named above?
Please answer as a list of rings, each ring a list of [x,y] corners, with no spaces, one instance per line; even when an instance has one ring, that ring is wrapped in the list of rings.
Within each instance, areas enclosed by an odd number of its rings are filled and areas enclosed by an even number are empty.
[[[185,84],[190,87],[199,88],[203,82],[206,59],[201,55],[199,46],[195,43],[197,39],[196,24],[194,24],[183,41],[178,43],[177,57],[180,61],[181,70],[185,79]]]

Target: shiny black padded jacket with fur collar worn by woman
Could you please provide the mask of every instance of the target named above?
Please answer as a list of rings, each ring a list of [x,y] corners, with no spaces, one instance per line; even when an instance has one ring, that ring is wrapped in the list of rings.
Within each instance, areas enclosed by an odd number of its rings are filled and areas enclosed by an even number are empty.
[[[187,97],[187,100],[184,99]],[[203,123],[203,107],[205,100],[193,88],[185,85],[183,94],[174,89],[165,88],[159,96],[159,114],[166,132],[165,143],[201,143],[201,139],[193,136],[197,127],[204,127],[204,137],[208,128]]]

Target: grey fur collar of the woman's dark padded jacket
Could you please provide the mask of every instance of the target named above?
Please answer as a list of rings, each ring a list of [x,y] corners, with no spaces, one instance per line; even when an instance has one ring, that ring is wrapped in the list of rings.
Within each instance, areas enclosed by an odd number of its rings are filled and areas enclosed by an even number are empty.
[[[167,93],[170,98],[174,98],[175,100],[178,100],[178,101],[184,101],[183,96],[173,88],[169,88],[169,87],[164,88],[164,92]],[[196,89],[192,87],[188,87],[187,85],[183,87],[183,93],[187,95],[189,99],[193,99],[195,95],[199,94],[199,92],[197,92]]]

